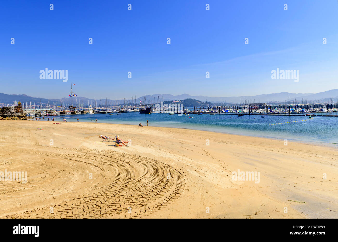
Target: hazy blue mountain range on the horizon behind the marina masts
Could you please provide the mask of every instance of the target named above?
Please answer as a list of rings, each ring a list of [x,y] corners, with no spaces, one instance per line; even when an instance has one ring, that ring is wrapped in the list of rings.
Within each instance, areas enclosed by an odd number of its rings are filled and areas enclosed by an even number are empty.
[[[101,98],[101,97],[100,97]],[[95,104],[95,99],[87,98],[87,97],[74,97],[73,98],[73,105],[76,105],[76,100],[78,105],[82,102],[84,106],[86,107],[89,104],[92,104],[94,107],[95,106],[104,106],[105,103],[108,105],[116,105],[118,103],[119,105],[123,105],[124,103],[129,104],[135,103],[135,100],[111,100],[111,99],[101,99],[101,104],[100,104],[100,98],[96,98],[96,104]],[[269,103],[274,102],[288,102],[290,101],[295,101],[297,100],[297,103],[301,103],[302,100],[307,100],[308,102],[312,103],[312,98],[314,99],[315,102],[329,102],[331,103],[331,98],[332,101],[337,101],[338,100],[338,89],[333,89],[325,92],[319,92],[319,93],[290,93],[290,92],[280,92],[280,93],[270,93],[270,94],[261,94],[261,95],[256,95],[256,96],[231,96],[231,97],[209,97],[209,96],[192,96],[189,94],[182,94],[182,95],[171,95],[171,94],[153,94],[153,95],[146,95],[146,101],[150,100],[150,103],[158,102],[160,99],[162,101],[174,101],[174,100],[184,100],[186,98],[191,98],[191,99],[196,99],[202,102],[212,102],[212,103],[217,103],[220,104],[222,100],[222,104],[224,105],[224,102],[228,104],[239,104],[239,103],[267,103],[269,100]],[[143,102],[144,96],[136,98],[136,103],[140,104],[141,100]],[[46,105],[48,104],[48,99],[46,98],[40,98],[40,97],[31,97],[25,94],[17,95],[17,94],[5,94],[5,93],[0,93],[0,103],[4,104],[13,104],[14,101],[21,101],[21,103],[36,103],[36,104],[43,104]],[[68,106],[71,104],[71,98],[70,97],[63,97],[61,98],[61,102],[64,106]],[[50,99],[49,103],[52,105],[53,103],[55,105],[60,105],[60,99]],[[82,106],[82,105],[81,105]]]

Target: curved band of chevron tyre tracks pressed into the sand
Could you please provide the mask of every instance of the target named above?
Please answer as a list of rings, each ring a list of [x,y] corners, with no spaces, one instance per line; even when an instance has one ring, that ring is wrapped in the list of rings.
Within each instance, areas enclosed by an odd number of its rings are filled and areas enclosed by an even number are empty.
[[[28,153],[86,162],[100,168],[107,182],[57,204],[53,213],[46,206],[7,218],[140,218],[171,204],[184,190],[183,175],[160,161],[107,150],[61,149],[76,154]]]

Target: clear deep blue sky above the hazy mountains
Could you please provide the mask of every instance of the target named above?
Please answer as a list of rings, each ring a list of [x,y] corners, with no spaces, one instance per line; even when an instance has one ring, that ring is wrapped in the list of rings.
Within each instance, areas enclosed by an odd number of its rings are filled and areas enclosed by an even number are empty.
[[[60,98],[71,82],[78,96],[111,99],[337,88],[336,0],[5,1],[0,21],[7,94]],[[68,70],[68,82],[41,80],[45,68]],[[277,68],[299,70],[299,82],[272,80]]]

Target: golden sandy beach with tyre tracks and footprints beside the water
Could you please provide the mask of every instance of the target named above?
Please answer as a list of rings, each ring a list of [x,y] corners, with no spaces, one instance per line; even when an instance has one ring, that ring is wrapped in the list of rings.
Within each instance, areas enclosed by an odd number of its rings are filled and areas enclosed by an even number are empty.
[[[2,218],[338,217],[332,147],[81,122],[2,120],[0,134],[0,172],[27,172],[0,181]],[[131,146],[98,137],[116,134]]]

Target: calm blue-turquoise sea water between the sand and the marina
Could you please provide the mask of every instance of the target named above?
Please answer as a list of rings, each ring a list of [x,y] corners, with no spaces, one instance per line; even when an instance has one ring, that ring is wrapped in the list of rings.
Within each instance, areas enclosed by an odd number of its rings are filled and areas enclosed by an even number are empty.
[[[338,115],[337,113],[333,113]],[[323,114],[324,115],[324,114]],[[189,118],[193,117],[193,118]],[[309,119],[307,116],[268,116],[261,118],[259,115],[197,115],[189,114],[182,116],[178,114],[169,115],[161,113],[140,114],[122,113],[120,115],[109,114],[79,114],[79,115],[59,115],[55,116],[55,122],[62,122],[63,118],[67,121],[80,122],[129,124],[146,126],[147,119],[150,126],[187,128],[197,130],[215,131],[221,133],[249,135],[276,139],[298,140],[306,142],[324,142],[338,144],[338,117],[314,117],[313,119],[285,123],[297,120]],[[43,120],[42,117],[40,120]],[[45,117],[44,120],[47,120]]]

